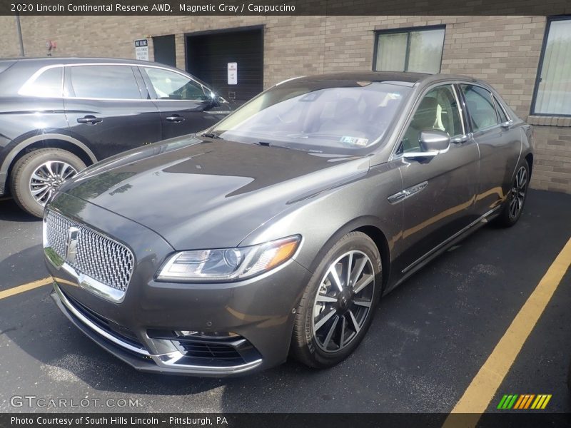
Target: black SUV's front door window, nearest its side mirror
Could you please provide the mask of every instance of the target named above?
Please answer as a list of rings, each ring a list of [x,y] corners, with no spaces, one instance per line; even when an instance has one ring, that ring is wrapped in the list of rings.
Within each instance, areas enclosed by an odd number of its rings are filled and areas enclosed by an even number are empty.
[[[200,83],[191,78],[164,70],[163,68],[143,67],[153,84],[159,100],[204,101],[206,95]]]

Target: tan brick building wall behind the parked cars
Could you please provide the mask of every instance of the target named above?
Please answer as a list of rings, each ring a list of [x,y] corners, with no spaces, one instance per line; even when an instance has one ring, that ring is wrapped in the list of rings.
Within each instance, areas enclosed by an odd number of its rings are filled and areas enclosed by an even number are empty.
[[[375,30],[445,25],[443,73],[475,76],[494,86],[522,118],[530,112],[545,16],[22,16],[26,56],[134,58],[133,41],[175,34],[176,60],[185,67],[184,34],[264,26],[264,87],[285,78],[331,71],[370,70]],[[17,56],[14,16],[0,16],[0,57]],[[532,118],[533,119],[533,118]],[[571,193],[571,127],[536,123],[532,186]],[[552,123],[547,126],[546,123]]]

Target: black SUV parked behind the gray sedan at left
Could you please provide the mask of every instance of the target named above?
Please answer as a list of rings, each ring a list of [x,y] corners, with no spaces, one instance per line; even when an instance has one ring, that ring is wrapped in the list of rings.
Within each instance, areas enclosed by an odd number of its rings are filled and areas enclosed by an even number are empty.
[[[231,110],[197,78],[116,58],[0,61],[0,195],[41,217],[59,185],[116,153],[210,127]]]

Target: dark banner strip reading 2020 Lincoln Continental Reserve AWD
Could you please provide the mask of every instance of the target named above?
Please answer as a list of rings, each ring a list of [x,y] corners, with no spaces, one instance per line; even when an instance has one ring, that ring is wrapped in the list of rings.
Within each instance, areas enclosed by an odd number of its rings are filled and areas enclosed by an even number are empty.
[[[43,0],[2,1],[0,14],[25,15],[561,15],[568,0]]]

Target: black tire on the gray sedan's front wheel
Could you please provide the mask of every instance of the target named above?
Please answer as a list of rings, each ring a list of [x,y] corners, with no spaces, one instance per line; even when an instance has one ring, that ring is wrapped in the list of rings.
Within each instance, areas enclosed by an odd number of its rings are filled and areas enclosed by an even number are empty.
[[[343,264],[343,260],[345,260],[343,256],[349,253],[351,254],[351,257],[345,261],[345,264]],[[363,255],[367,256],[370,263],[365,260]],[[339,263],[335,263],[339,258],[342,258],[342,260],[340,260]],[[333,263],[335,263],[335,268],[342,266],[339,277],[344,277],[345,272],[347,272],[345,266],[349,264],[350,260],[353,260],[351,268],[351,272],[354,272],[352,278],[353,282],[350,282],[350,286],[347,287],[349,290],[345,290],[345,288],[343,288],[343,290],[349,292],[349,295],[352,295],[353,297],[345,299],[345,295],[343,295],[345,291],[338,291],[338,287],[333,285],[332,280],[330,281],[331,285],[328,289],[325,282],[328,281],[329,268],[333,266]],[[363,273],[359,274],[360,276],[355,277],[358,272],[358,263],[361,262],[365,265],[361,271]],[[365,272],[367,275],[366,278]],[[328,251],[318,267],[315,269],[315,273],[311,277],[307,287],[305,287],[303,296],[296,308],[290,354],[295,357],[296,360],[303,362],[303,364],[316,368],[332,367],[345,360],[345,358],[347,358],[358,347],[360,341],[363,340],[363,337],[373,320],[375,308],[378,305],[382,289],[381,272],[382,263],[379,251],[373,240],[371,240],[368,235],[360,232],[351,232],[343,236],[338,243],[335,243],[333,248]],[[370,275],[373,275],[373,281],[369,282],[370,285],[366,285],[360,292],[353,294],[353,291],[356,289],[353,288],[353,285],[364,284],[366,282],[365,279],[370,280]],[[344,283],[348,282],[348,280],[342,281]],[[373,287],[372,290],[369,289],[371,286]],[[322,294],[324,292],[323,290],[334,289],[335,291],[333,291],[333,293],[338,293],[338,296],[335,297],[338,299],[337,302],[316,302],[318,292],[321,291],[320,296],[323,296],[325,295]],[[363,293],[365,293],[366,298],[358,296],[363,295]],[[352,299],[359,300],[359,303],[355,304]],[[370,303],[368,312],[364,315],[363,312],[360,312],[363,309],[361,306],[363,300],[367,300],[367,304]],[[318,305],[326,305],[328,309],[327,312],[323,309],[323,312],[318,312],[315,316],[318,316],[321,313],[326,313],[327,315],[329,312],[333,312],[333,310],[336,312],[331,315],[325,324],[319,327],[320,329],[323,329],[323,332],[317,330],[317,332],[314,333],[313,328],[317,327],[320,321],[325,318],[325,316],[320,317],[320,320],[314,324],[314,307],[316,308]],[[343,315],[340,315],[343,311],[346,312],[344,312]],[[357,314],[356,317],[353,313],[349,313],[353,311]],[[353,322],[362,322],[360,330],[355,327],[354,323],[351,324],[351,317],[353,317]],[[338,319],[337,321],[335,321],[336,318]],[[347,326],[346,330],[345,326]],[[333,330],[333,333],[330,333],[330,330]],[[325,331],[327,331],[327,334],[325,334]],[[348,335],[348,333],[350,334]],[[325,335],[324,339],[323,335]],[[343,335],[343,337],[348,336],[348,344],[338,346],[343,342],[340,339],[341,335]],[[334,339],[334,337],[337,337],[337,339]],[[326,342],[325,348],[324,342]],[[331,349],[328,349],[328,347]],[[335,349],[335,347],[338,348]]]

